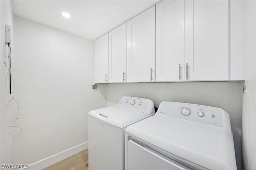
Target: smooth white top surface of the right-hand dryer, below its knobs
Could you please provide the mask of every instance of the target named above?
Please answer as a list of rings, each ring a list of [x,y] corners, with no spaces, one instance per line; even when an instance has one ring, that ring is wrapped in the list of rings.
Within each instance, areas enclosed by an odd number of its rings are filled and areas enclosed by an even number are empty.
[[[130,125],[125,131],[205,168],[236,169],[230,124],[229,128],[225,122],[224,127],[219,127],[191,121],[186,119],[186,116],[184,119],[173,117],[162,114],[167,111],[160,107],[161,105],[154,116]],[[190,105],[190,107],[194,106]],[[172,108],[169,108],[170,110]],[[222,119],[226,119],[226,114]]]

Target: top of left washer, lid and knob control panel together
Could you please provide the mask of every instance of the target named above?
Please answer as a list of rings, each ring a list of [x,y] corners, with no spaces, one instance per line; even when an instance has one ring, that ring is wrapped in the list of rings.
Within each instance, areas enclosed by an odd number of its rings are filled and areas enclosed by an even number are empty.
[[[96,119],[124,128],[154,115],[154,103],[149,99],[123,96],[116,106],[90,111]]]

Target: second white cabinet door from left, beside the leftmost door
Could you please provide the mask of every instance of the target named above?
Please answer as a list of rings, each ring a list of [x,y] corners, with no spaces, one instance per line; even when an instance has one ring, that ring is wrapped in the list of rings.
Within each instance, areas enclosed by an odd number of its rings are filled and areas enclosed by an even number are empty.
[[[126,82],[127,23],[108,33],[108,82]]]

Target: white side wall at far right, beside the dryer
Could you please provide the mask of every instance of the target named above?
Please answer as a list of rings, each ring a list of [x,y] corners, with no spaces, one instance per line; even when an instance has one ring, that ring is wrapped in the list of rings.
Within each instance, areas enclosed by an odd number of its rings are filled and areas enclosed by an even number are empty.
[[[256,1],[246,1],[246,94],[242,113],[244,168],[256,169]]]

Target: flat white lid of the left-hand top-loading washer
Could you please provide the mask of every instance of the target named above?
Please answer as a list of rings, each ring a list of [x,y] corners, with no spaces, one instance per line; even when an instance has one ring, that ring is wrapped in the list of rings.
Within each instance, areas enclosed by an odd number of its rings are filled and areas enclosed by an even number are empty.
[[[139,109],[132,109],[122,106],[105,107],[94,111],[96,113],[99,113],[100,115],[103,115],[104,117],[111,117],[112,119],[116,119],[119,121],[144,113],[144,111]]]

